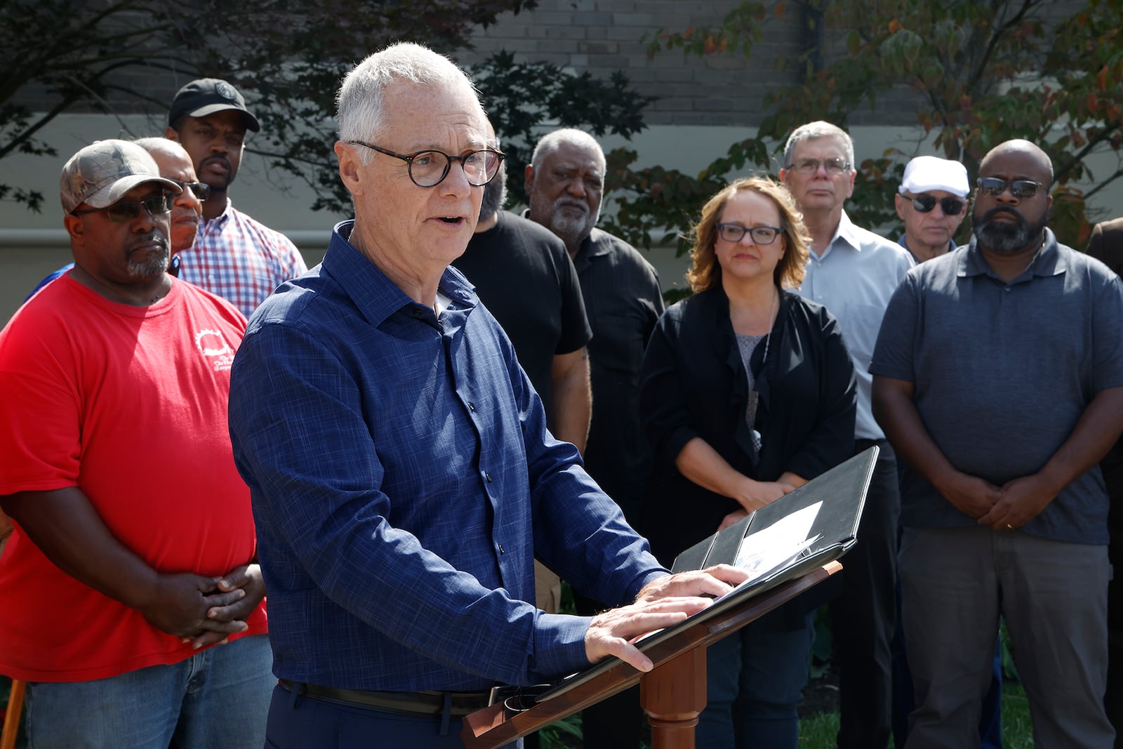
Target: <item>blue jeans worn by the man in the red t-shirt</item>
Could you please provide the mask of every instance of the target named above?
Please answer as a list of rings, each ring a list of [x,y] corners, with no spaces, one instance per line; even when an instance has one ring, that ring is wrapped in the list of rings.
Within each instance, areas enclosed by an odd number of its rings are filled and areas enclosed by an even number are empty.
[[[261,749],[276,684],[272,669],[268,636],[255,634],[170,666],[92,682],[28,683],[28,747]]]

